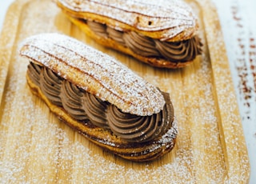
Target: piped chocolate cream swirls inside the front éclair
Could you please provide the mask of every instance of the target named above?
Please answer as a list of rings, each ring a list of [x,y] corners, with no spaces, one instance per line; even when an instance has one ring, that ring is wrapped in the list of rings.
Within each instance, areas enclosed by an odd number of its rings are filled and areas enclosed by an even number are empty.
[[[30,62],[27,74],[42,94],[51,103],[66,110],[70,117],[108,129],[126,142],[156,140],[172,126],[174,110],[169,94],[162,92],[166,105],[158,114],[138,116],[123,113],[116,106],[74,86],[44,66]]]

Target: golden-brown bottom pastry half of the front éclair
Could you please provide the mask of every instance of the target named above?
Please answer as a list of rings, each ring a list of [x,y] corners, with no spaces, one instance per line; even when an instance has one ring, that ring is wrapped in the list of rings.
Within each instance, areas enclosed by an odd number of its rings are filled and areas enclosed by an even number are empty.
[[[40,88],[30,80],[28,75],[26,75],[26,79],[32,93],[36,94],[39,98],[42,98],[50,108],[50,111],[56,114],[62,122],[65,122],[66,125],[84,135],[91,142],[94,142],[96,145],[101,146],[122,158],[136,162],[145,162],[159,158],[174,148],[177,134],[175,119],[172,128],[159,140],[144,143],[125,142],[112,134],[109,130],[92,126],[90,123],[87,124],[74,120],[74,118],[71,118],[70,115],[66,114],[66,111],[62,109],[62,107],[52,104],[46,96],[42,94]]]

